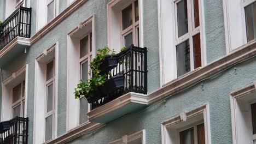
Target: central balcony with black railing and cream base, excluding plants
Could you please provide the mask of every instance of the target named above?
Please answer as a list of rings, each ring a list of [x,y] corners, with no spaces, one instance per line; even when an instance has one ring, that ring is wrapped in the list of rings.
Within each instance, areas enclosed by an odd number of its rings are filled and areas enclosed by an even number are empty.
[[[108,80],[106,92],[90,101],[89,121],[107,123],[147,106],[147,48],[131,45],[117,54],[117,65],[103,72]],[[119,81],[118,86],[114,83]],[[113,89],[113,90],[110,90]]]

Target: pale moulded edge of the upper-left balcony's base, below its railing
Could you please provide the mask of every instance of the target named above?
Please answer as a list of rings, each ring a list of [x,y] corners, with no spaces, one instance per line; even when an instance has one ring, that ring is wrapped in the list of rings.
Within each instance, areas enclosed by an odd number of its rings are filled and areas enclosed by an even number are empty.
[[[23,37],[16,37],[15,39],[11,40],[11,42],[7,46],[5,46],[2,50],[0,50],[0,58],[2,58],[5,55],[5,53],[13,49],[13,47],[16,46],[17,44],[30,46],[30,39],[23,38]]]

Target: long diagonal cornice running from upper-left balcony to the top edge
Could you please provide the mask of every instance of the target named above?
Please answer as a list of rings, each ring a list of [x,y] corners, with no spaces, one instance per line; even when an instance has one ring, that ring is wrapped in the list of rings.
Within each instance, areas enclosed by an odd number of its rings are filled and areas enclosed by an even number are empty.
[[[88,0],[76,0],[71,5],[69,5],[65,10],[63,10],[59,15],[57,15],[52,21],[46,24],[43,28],[41,28],[33,37],[30,38],[31,44],[36,43],[37,40],[42,38],[46,33],[48,33],[51,29],[57,26],[61,21],[66,19],[67,16],[73,13],[74,10],[78,9],[82,4],[84,4]]]

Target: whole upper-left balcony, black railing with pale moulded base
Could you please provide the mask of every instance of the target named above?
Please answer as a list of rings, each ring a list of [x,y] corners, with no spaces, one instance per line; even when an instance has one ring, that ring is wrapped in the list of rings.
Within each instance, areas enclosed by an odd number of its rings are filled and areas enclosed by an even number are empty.
[[[0,66],[30,46],[31,8],[20,7],[0,27]]]

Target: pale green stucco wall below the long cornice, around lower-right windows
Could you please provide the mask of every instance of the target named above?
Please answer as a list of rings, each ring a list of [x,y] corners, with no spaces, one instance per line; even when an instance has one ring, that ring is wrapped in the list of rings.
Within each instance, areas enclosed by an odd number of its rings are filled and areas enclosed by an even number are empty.
[[[187,91],[173,95],[166,100],[166,103],[162,101],[143,112],[121,118],[69,143],[103,144],[121,139],[123,135],[130,135],[142,129],[146,130],[147,144],[161,143],[162,121],[177,116],[183,111],[193,110],[203,104],[209,104],[210,107],[212,143],[232,143],[229,93],[256,80],[256,58],[235,67],[202,81]]]

